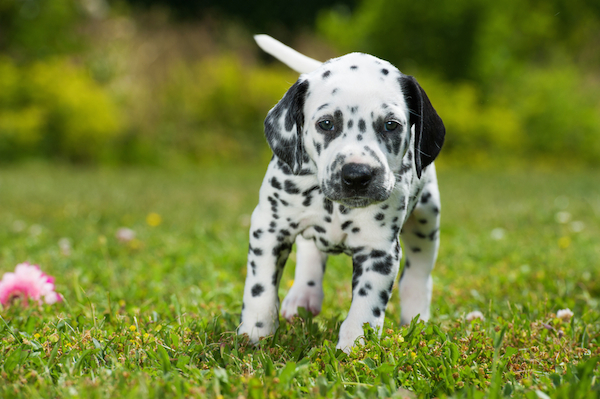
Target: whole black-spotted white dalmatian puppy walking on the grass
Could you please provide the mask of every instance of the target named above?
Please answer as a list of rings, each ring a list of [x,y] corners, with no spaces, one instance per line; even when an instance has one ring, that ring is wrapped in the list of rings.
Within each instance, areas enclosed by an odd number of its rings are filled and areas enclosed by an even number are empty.
[[[369,323],[381,333],[401,259],[401,323],[429,318],[439,246],[435,167],[445,128],[415,78],[367,54],[323,64],[268,36],[267,52],[303,73],[268,113],[273,150],[252,214],[239,334],[273,334],[304,307],[321,311],[329,254],[352,257],[352,303],[337,347],[349,351]],[[294,284],[279,303],[292,245]]]

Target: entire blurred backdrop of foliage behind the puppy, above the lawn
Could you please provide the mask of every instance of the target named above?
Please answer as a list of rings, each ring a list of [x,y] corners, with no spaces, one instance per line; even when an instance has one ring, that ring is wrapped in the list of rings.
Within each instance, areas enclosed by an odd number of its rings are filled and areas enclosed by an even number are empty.
[[[600,165],[597,0],[0,0],[0,165],[265,162],[297,74],[255,33],[415,75],[442,164]]]

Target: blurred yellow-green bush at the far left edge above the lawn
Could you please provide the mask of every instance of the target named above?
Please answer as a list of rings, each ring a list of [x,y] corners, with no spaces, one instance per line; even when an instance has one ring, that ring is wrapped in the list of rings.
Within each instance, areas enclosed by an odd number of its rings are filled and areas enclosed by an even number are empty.
[[[99,161],[123,128],[119,109],[82,68],[56,58],[0,58],[0,159]]]

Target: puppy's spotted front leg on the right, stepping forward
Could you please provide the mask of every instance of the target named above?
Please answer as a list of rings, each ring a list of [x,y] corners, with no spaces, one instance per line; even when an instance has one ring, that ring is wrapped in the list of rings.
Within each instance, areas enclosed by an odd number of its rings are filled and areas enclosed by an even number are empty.
[[[398,239],[391,248],[361,249],[352,256],[352,305],[340,327],[338,349],[349,352],[354,341],[364,334],[365,323],[381,333],[385,308],[398,275],[399,256]]]

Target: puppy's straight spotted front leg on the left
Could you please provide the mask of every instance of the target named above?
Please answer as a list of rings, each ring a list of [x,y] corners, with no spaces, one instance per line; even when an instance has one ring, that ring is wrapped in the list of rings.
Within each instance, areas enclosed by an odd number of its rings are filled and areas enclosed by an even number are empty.
[[[279,280],[290,254],[295,233],[277,227],[264,203],[252,213],[248,274],[238,334],[252,342],[275,332],[279,325]]]

